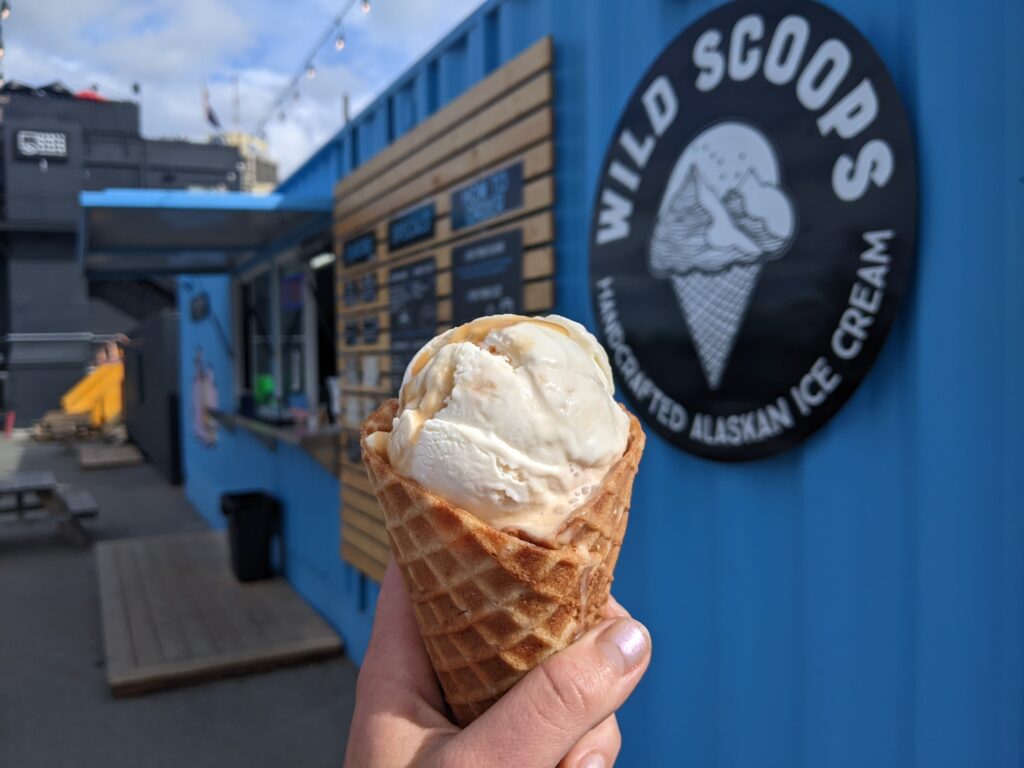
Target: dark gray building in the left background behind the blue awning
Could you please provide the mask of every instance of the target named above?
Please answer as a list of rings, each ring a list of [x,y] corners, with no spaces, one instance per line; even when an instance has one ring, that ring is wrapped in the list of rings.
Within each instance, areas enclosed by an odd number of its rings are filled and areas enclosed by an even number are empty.
[[[58,407],[97,337],[174,304],[172,284],[90,284],[79,263],[79,193],[111,187],[238,189],[237,148],[142,138],[131,101],[62,86],[0,90],[0,377],[19,424]]]

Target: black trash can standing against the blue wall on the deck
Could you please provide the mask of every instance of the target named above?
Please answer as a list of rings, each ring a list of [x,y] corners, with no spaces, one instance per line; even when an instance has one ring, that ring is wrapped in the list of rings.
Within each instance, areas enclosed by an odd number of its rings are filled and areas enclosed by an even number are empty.
[[[261,492],[224,494],[220,511],[227,517],[231,570],[240,582],[273,577],[270,546],[278,532],[281,504]]]

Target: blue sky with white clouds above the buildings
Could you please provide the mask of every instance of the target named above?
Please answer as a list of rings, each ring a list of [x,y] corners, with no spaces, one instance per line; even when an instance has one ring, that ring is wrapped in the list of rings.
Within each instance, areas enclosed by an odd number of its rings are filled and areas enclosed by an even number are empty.
[[[370,103],[482,0],[10,0],[3,23],[8,80],[72,90],[98,85],[110,98],[141,86],[142,133],[206,140],[203,88],[221,124],[253,131],[300,71],[331,20],[345,15],[346,46],[318,52],[285,120],[267,124],[270,153],[285,178],[351,114]],[[233,109],[238,79],[240,121]]]

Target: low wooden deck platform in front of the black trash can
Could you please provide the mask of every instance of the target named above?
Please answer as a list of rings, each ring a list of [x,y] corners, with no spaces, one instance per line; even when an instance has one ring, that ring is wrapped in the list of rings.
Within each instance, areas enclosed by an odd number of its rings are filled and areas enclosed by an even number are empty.
[[[96,546],[115,695],[324,658],[341,639],[287,582],[240,584],[221,532]]]

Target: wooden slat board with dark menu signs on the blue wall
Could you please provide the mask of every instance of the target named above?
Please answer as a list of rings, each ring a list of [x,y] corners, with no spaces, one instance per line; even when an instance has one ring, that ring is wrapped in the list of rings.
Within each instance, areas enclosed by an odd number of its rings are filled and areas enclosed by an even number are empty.
[[[359,425],[439,331],[554,306],[552,90],[546,38],[335,187],[341,556],[375,580],[389,549]]]

